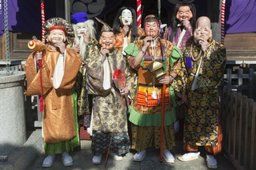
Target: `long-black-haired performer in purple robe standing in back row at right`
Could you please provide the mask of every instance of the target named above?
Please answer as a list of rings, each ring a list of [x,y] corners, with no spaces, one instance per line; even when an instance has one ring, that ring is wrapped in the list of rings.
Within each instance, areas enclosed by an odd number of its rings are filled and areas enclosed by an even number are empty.
[[[194,0],[181,0],[170,1],[175,4],[174,14],[170,21],[170,26],[167,30],[167,39],[173,42],[174,45],[180,49],[183,53],[186,45],[189,45],[193,39],[193,32],[196,22],[196,8],[192,2]],[[176,77],[174,75],[174,77]],[[176,80],[173,82],[173,86],[177,84]],[[186,113],[186,104],[182,103],[181,94],[176,92],[174,95],[176,102],[176,117],[177,120],[174,123],[174,132],[178,132],[180,128],[180,122],[183,122]],[[183,123],[181,123],[183,125]],[[177,134],[177,137],[182,136],[182,132]]]

